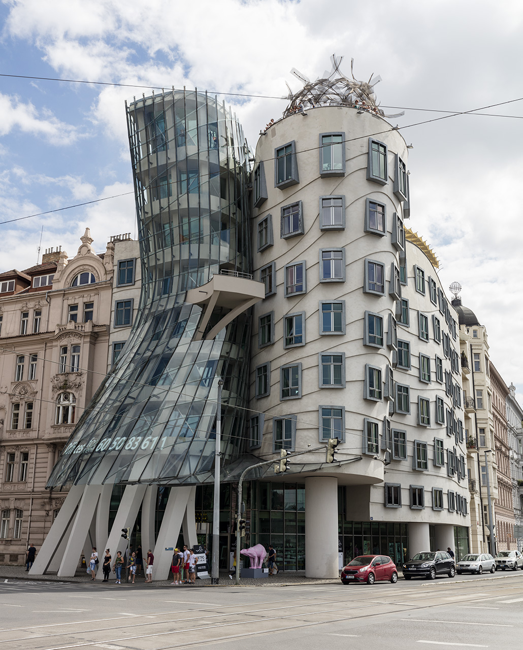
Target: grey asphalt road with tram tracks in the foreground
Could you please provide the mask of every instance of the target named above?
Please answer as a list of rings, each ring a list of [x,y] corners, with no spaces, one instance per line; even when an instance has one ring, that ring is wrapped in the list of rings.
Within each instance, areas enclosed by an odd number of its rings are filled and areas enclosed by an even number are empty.
[[[0,582],[0,650],[520,650],[523,575],[235,587]]]

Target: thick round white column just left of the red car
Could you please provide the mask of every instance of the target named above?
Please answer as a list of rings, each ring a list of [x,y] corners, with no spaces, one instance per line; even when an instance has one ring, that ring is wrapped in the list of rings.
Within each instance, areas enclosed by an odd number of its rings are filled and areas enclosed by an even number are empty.
[[[333,476],[305,478],[305,575],[307,578],[340,575],[338,479]]]

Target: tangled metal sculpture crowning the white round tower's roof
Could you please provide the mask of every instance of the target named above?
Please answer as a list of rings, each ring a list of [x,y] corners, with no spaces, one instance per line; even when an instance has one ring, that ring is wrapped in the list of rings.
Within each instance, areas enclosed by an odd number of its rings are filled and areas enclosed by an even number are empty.
[[[351,59],[352,79],[349,79],[340,70],[343,58],[333,54],[331,56],[331,72],[325,70],[323,77],[318,77],[316,81],[311,81],[307,75],[292,68],[290,72],[300,79],[304,86],[298,92],[293,93],[287,84],[289,103],[283,116],[287,117],[294,112],[313,109],[316,106],[351,106],[369,110],[382,117],[398,117],[404,114],[401,112],[396,115],[385,115],[376,103],[376,94],[374,93],[374,86],[381,81],[381,77],[379,75],[374,77],[373,72],[368,81],[358,81],[353,73],[354,59]]]

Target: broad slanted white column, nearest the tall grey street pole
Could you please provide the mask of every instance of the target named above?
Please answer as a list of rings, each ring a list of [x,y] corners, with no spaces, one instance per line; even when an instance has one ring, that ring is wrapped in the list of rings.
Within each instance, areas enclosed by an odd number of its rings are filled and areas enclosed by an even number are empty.
[[[166,549],[176,545],[192,489],[192,487],[186,486],[173,486],[171,488],[155,550],[153,551],[155,556],[153,578],[155,580],[165,580],[169,575],[173,551],[166,551]]]

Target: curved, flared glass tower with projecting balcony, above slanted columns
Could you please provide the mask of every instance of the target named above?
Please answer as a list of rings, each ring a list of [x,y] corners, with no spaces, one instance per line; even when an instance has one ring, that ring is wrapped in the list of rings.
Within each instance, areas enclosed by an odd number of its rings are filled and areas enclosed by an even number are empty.
[[[218,380],[222,460],[242,453],[248,382],[248,146],[216,98],[136,99],[127,123],[142,295],[125,350],[48,487],[211,480]],[[260,295],[260,297],[263,294]]]

